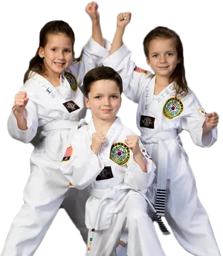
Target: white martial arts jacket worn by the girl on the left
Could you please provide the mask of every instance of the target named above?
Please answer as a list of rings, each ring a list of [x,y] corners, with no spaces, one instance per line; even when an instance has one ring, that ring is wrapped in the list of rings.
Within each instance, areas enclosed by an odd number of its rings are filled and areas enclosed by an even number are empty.
[[[81,60],[72,63],[66,70],[74,77],[63,71],[59,87],[54,87],[44,77],[32,72],[30,79],[20,89],[21,92],[27,92],[29,98],[25,107],[28,129],[22,131],[17,127],[16,117],[12,111],[7,120],[10,136],[18,141],[29,143],[36,135],[37,128],[42,127],[40,136],[45,139],[34,152],[45,150],[51,159],[57,161],[61,159],[68,144],[69,129],[71,127],[77,129],[85,124],[82,119],[86,115],[84,96],[81,92],[83,77],[91,68],[100,65],[100,60],[109,53],[107,49],[110,47],[109,41],[104,39],[104,45],[105,48],[90,37],[83,45]],[[73,83],[73,90],[71,83]],[[70,100],[75,104],[70,104]]]

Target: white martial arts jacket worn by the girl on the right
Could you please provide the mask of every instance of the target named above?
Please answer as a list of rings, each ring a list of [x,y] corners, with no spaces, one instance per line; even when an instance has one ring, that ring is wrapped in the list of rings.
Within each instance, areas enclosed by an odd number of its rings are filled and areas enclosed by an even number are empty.
[[[152,77],[146,68],[137,66],[135,61],[130,59],[131,54],[129,48],[123,44],[114,54],[105,57],[102,64],[114,68],[120,74],[124,94],[137,104],[140,138],[155,163],[160,160],[158,170],[167,169],[168,159],[168,170],[178,170],[180,166],[176,164],[175,159],[181,159],[181,153],[187,158],[179,137],[182,130],[190,132],[195,145],[210,147],[217,141],[217,128],[203,134],[202,126],[206,114],[192,89],[189,89],[187,96],[178,97],[175,102],[173,83],[159,95],[154,95],[155,77]],[[181,164],[181,161],[178,161],[178,164]],[[169,175],[170,173],[167,173],[167,177]]]

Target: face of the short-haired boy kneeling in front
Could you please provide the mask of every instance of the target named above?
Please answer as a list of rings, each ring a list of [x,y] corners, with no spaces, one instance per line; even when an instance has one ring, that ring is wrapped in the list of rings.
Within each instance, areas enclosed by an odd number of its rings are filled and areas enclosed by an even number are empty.
[[[94,119],[114,121],[120,109],[123,96],[114,80],[97,80],[91,83],[85,104],[91,109]]]

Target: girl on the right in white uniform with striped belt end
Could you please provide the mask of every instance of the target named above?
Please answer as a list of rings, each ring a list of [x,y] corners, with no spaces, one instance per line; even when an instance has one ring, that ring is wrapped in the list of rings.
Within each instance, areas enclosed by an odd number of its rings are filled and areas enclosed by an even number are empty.
[[[140,139],[158,167],[148,194],[184,249],[197,256],[220,255],[180,138],[185,129],[197,146],[211,147],[217,141],[219,115],[206,113],[185,82],[184,47],[171,29],[158,26],[144,37],[149,71],[129,59],[132,53],[123,44],[123,34],[130,18],[129,12],[118,14],[111,55],[103,65],[121,75],[124,94],[138,105]]]

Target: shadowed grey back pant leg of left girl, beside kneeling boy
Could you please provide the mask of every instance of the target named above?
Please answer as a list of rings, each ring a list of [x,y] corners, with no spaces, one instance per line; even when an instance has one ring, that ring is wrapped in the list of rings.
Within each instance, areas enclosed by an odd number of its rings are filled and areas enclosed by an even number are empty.
[[[88,240],[88,228],[85,225],[85,203],[88,197],[87,188],[83,190],[70,188],[62,202],[62,207],[65,209],[66,214],[68,214],[74,226],[80,231],[85,245],[87,245]]]

